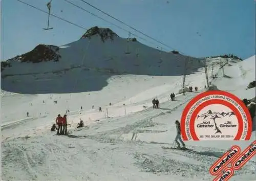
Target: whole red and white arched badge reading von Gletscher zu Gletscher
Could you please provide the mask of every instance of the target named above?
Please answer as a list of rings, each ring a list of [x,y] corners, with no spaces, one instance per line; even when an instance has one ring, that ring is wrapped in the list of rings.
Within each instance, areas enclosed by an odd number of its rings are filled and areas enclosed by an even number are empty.
[[[210,90],[196,96],[181,117],[184,141],[249,140],[252,120],[248,108],[236,96]]]

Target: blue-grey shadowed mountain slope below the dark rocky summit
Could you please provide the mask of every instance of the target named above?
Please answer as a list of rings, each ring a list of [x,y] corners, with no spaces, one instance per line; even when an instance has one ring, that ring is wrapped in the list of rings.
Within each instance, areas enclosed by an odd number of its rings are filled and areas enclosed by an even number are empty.
[[[54,47],[60,56],[58,61],[47,58],[32,63],[33,53],[26,56],[32,57],[26,62],[20,62],[24,55],[9,60],[10,67],[2,71],[2,89],[22,94],[81,93],[101,90],[113,75],[183,75],[187,58],[187,74],[203,66],[198,58],[159,51],[138,41],[127,42],[117,35],[103,42],[100,35],[81,38],[58,49]]]

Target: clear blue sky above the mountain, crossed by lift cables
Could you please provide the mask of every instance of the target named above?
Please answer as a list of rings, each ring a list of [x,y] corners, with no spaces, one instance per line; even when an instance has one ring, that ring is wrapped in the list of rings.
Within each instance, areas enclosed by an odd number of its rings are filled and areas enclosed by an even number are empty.
[[[22,0],[47,11],[46,0]],[[151,47],[163,47],[80,0],[69,0],[100,17],[131,31]],[[255,55],[255,2],[253,0],[86,0],[126,24],[194,57],[234,54],[242,59]],[[87,29],[108,27],[121,37],[129,33],[78,9],[63,0],[53,0],[51,12]],[[16,0],[2,1],[2,55],[7,60],[31,51],[37,44],[61,46],[79,39],[86,30],[48,15]],[[198,32],[198,33],[197,33]],[[201,36],[199,36],[201,35]],[[132,35],[133,36],[133,35]]]

